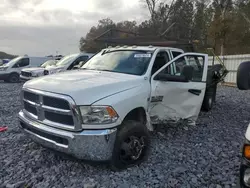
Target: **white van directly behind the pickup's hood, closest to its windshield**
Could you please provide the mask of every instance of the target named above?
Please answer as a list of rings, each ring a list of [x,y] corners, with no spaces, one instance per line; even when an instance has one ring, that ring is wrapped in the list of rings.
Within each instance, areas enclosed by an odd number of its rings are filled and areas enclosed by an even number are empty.
[[[44,70],[44,75],[54,74],[58,72],[64,72],[74,69],[80,62],[86,62],[94,54],[90,53],[77,53],[63,57],[55,65],[50,66]]]

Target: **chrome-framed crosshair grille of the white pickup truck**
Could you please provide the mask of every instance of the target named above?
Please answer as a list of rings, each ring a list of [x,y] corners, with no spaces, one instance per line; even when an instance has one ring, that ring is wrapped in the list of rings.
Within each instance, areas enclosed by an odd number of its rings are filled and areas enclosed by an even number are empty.
[[[81,129],[75,105],[71,105],[74,101],[70,97],[28,89],[24,89],[22,95],[25,115],[53,127]]]

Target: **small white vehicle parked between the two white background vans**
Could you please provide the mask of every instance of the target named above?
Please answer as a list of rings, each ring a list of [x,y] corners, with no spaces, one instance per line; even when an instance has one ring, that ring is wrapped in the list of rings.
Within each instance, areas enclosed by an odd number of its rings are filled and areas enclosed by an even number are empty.
[[[43,64],[41,64],[41,66],[39,67],[24,68],[21,71],[20,79],[22,81],[27,81],[33,78],[44,76],[45,68],[55,65],[57,62],[58,60],[48,60],[44,62]]]

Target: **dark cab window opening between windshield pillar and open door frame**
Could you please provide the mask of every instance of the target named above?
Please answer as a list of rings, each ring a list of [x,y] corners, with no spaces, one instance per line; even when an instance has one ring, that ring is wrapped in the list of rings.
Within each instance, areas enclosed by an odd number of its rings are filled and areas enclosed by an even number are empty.
[[[158,71],[162,66],[169,62],[170,58],[166,51],[158,52],[152,67],[151,75]],[[170,70],[167,70],[170,71]],[[170,71],[171,72],[171,71]]]

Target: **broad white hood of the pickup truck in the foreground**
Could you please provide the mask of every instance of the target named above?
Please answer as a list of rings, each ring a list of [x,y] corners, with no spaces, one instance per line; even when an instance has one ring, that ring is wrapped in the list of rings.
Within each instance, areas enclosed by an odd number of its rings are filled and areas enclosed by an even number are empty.
[[[105,97],[138,87],[143,80],[142,76],[121,73],[72,70],[30,80],[24,87],[68,95],[77,105],[90,105]]]

